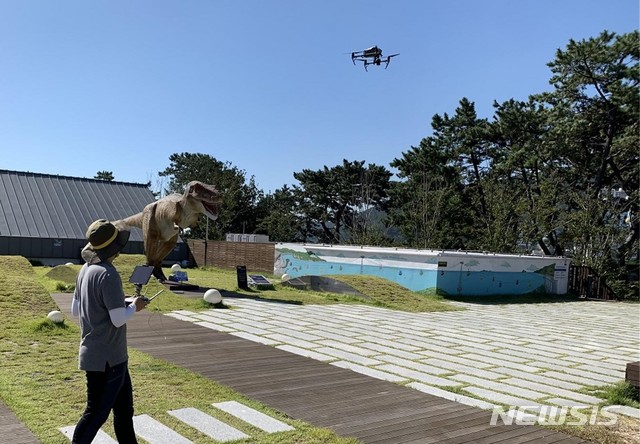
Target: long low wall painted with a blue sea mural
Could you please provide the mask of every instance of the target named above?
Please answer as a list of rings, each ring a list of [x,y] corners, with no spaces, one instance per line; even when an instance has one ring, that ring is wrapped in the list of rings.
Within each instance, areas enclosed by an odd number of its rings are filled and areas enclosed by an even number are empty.
[[[568,268],[557,257],[277,244],[274,274],[366,274],[451,295],[566,294]]]

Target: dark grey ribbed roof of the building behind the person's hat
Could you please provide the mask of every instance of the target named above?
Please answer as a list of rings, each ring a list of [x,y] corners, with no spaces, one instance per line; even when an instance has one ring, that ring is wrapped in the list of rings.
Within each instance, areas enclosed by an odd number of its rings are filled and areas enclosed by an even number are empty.
[[[0,237],[84,239],[94,220],[123,219],[154,200],[144,184],[0,170]]]

